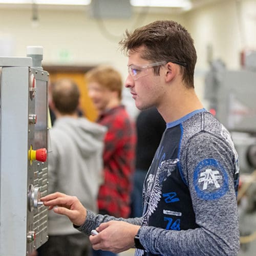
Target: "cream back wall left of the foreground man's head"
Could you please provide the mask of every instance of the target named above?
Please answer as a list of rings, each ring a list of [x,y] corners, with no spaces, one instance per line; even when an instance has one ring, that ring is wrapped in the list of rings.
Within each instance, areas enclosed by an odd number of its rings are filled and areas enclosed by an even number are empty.
[[[105,28],[115,36],[110,40],[101,33],[96,19],[83,8],[71,11],[39,9],[39,26],[36,28],[31,26],[31,10],[0,9],[0,35],[2,33],[13,37],[13,55],[16,56],[25,56],[27,45],[41,45],[44,47],[44,63],[109,63],[126,75],[127,59],[118,49],[118,42],[125,29],[133,30],[157,19],[182,22],[182,17],[177,15],[150,14],[143,24],[135,24],[137,16],[135,13],[131,19],[104,20]],[[61,57],[61,52],[69,53],[69,57]]]

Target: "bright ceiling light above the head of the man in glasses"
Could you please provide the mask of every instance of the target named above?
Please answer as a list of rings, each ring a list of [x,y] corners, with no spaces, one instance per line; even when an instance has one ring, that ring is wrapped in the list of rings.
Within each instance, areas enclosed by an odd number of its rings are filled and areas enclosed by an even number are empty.
[[[189,0],[130,0],[133,6],[191,8]]]

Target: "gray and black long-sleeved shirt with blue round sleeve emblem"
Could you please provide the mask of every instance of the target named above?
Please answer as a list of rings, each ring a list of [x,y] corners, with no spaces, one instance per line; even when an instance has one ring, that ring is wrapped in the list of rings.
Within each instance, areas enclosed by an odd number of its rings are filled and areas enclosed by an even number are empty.
[[[136,255],[237,255],[238,155],[225,127],[204,109],[167,123],[143,188],[143,217],[88,211],[79,227],[110,220],[141,225]]]

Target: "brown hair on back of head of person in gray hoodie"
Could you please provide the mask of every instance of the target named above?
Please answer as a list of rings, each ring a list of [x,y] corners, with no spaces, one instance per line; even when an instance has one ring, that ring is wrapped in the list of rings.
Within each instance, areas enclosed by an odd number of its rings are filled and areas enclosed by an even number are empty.
[[[77,84],[68,78],[52,84],[52,100],[61,114],[73,114],[79,104],[80,92]]]

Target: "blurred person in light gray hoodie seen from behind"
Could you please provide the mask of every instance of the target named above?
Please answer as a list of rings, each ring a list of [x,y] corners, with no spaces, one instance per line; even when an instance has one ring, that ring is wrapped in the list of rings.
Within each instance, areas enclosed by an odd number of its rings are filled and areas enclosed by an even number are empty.
[[[48,191],[76,195],[96,213],[106,129],[78,117],[80,93],[72,80],[60,79],[51,89],[49,103],[56,121],[50,130]],[[88,237],[77,232],[65,216],[49,212],[48,234],[48,242],[38,248],[39,256],[84,256],[91,252]]]

